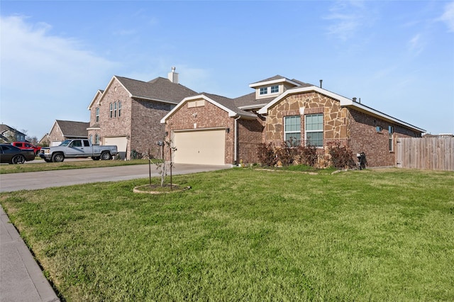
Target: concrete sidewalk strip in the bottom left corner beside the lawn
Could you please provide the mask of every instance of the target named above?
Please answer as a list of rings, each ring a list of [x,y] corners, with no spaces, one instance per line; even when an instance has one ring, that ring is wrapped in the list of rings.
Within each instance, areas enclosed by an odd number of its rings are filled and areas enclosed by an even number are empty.
[[[0,301],[60,301],[0,206]]]

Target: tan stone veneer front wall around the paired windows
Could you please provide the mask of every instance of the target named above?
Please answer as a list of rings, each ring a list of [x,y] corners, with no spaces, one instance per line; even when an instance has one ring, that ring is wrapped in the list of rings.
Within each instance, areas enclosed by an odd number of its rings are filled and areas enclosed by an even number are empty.
[[[271,108],[266,119],[265,142],[281,145],[284,140],[284,117],[302,116],[300,108],[304,108],[304,115],[323,113],[324,145],[335,142],[347,144],[349,135],[347,109],[341,108],[339,101],[317,92],[287,96]],[[304,140],[304,118],[301,118],[301,140]]]

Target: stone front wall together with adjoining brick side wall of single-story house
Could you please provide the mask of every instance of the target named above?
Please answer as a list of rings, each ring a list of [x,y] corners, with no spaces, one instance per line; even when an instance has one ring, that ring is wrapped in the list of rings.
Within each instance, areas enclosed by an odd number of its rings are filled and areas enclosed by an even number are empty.
[[[370,167],[394,166],[396,162],[394,150],[397,137],[421,137],[408,128],[389,123],[380,118],[349,108],[342,108],[339,101],[317,92],[306,92],[287,96],[268,112],[266,119],[265,142],[273,142],[275,146],[284,140],[284,116],[323,113],[323,145],[325,152],[330,145],[338,143],[348,146],[356,154],[365,152]],[[394,127],[394,150],[389,151],[388,126]],[[382,127],[377,133],[376,127]],[[301,118],[301,140],[304,140],[304,118]]]

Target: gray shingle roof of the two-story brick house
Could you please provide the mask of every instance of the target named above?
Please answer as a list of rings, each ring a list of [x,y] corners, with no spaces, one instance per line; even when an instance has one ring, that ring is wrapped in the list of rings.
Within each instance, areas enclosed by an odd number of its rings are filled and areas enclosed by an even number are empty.
[[[172,83],[169,79],[163,77],[157,77],[150,82],[118,76],[116,76],[116,78],[125,86],[133,97],[138,99],[169,101],[177,104],[185,97],[197,94],[196,91],[189,89],[182,84]]]

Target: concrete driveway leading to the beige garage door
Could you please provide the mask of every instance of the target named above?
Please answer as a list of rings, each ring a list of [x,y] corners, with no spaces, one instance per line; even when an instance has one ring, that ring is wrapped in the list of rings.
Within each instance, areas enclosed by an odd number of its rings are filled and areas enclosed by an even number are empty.
[[[175,164],[172,174],[191,174],[231,168],[205,164]],[[148,164],[131,166],[102,167],[87,169],[55,170],[43,172],[25,172],[0,174],[0,192],[44,189],[53,186],[70,186],[99,181],[121,181],[128,179],[148,178]],[[159,177],[155,165],[151,166],[151,177]]]

